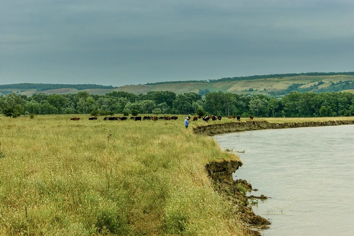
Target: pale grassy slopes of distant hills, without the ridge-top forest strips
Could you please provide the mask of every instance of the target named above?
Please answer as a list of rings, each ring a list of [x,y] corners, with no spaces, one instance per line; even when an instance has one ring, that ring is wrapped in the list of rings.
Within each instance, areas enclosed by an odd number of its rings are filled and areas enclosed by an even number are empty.
[[[289,77],[273,77],[273,78],[263,78],[263,79],[252,79],[252,80],[237,80],[237,81],[219,81],[219,82],[186,82],[186,83],[166,83],[166,84],[153,84],[153,85],[126,85],[114,88],[87,88],[83,90],[78,90],[75,87],[68,88],[57,88],[50,90],[39,90],[39,89],[29,89],[24,90],[23,88],[16,89],[15,85],[13,88],[0,89],[0,94],[6,94],[8,92],[16,92],[18,94],[24,94],[31,96],[34,93],[76,93],[78,91],[87,91],[93,94],[103,95],[112,91],[125,91],[130,93],[147,93],[148,91],[173,91],[176,94],[195,92],[198,93],[200,90],[222,91],[222,92],[232,92],[238,94],[272,94],[275,92],[285,91],[289,86],[295,86],[299,91],[312,91],[323,88],[329,88],[330,86],[337,85],[339,81],[348,81],[351,84],[354,81],[354,75],[299,75],[299,76],[289,76]],[[337,84],[336,84],[337,83]],[[344,88],[343,90],[349,90],[352,87]],[[338,86],[336,90],[328,91],[341,91],[342,89]],[[325,91],[324,91],[325,92]],[[278,94],[279,95],[279,94]]]

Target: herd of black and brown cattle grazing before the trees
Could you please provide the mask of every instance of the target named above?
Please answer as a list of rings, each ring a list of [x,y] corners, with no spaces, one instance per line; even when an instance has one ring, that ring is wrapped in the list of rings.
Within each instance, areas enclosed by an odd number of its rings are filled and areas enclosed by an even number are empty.
[[[190,116],[188,116],[190,119]],[[194,116],[193,117],[193,121],[198,121],[198,119],[202,118],[203,121],[208,122],[210,119],[211,120],[221,120],[222,116]],[[228,116],[228,119],[237,119],[238,121],[240,121],[240,116]],[[253,120],[253,116],[250,116],[250,119]],[[157,120],[178,120],[178,116],[143,116],[143,118],[141,116],[131,116],[129,118],[130,120],[135,120],[135,121],[141,121],[141,120],[153,120],[153,121],[157,121]],[[70,120],[80,120],[80,117],[73,117]],[[89,120],[97,120],[97,117],[90,117]],[[103,120],[128,120],[128,117],[118,117],[118,116],[109,116],[109,117],[104,117]]]

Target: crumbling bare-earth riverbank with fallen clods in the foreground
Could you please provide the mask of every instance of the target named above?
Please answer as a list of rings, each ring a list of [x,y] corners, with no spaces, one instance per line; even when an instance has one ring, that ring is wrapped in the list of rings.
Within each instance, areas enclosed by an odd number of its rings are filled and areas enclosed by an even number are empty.
[[[239,161],[211,162],[206,165],[206,171],[211,177],[215,190],[225,199],[232,203],[234,208],[232,213],[239,215],[244,223],[244,230],[249,235],[261,235],[260,232],[251,230],[251,228],[264,229],[270,222],[256,215],[250,206],[247,206],[248,197],[246,191],[252,190],[252,185],[246,180],[233,180],[234,173],[242,165]],[[243,188],[240,188],[242,186]],[[243,189],[243,190],[242,190]]]

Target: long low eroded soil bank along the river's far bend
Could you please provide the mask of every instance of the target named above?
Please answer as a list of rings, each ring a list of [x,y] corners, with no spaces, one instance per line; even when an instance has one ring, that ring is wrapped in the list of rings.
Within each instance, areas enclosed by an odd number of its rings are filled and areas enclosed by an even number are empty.
[[[197,126],[193,128],[196,134],[207,134],[213,136],[215,134],[241,132],[259,129],[282,129],[297,127],[315,127],[315,126],[332,126],[332,125],[354,125],[354,121],[323,121],[323,122],[298,122],[298,123],[269,123],[267,121],[246,121],[246,122],[227,122],[218,124],[209,124]]]

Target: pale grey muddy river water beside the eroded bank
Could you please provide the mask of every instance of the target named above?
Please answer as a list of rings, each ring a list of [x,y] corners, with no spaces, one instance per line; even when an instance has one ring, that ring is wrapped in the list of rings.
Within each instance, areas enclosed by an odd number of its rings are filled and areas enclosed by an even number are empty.
[[[234,179],[246,179],[265,236],[354,235],[354,125],[268,129],[214,136],[245,153]]]

